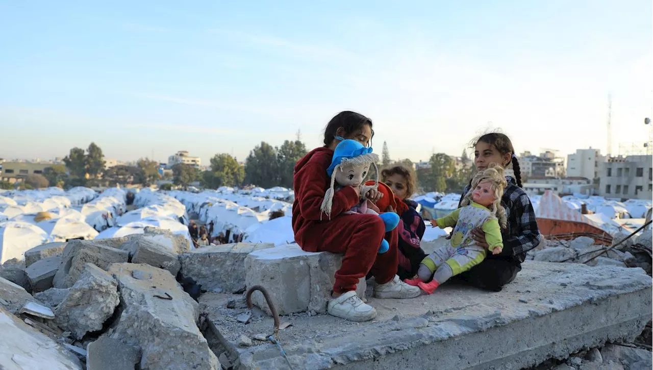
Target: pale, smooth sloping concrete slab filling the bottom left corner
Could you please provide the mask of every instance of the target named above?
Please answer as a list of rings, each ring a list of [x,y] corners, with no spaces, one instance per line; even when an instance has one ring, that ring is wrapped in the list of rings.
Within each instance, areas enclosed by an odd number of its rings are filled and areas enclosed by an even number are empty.
[[[30,328],[0,305],[0,368],[7,370],[82,370],[68,350]]]

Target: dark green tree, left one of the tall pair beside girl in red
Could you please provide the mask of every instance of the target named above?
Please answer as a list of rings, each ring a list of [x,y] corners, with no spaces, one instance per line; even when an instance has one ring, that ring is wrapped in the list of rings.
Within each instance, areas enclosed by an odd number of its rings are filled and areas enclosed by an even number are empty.
[[[279,169],[276,150],[261,141],[254,147],[245,164],[245,178],[249,184],[272,188],[279,184]]]

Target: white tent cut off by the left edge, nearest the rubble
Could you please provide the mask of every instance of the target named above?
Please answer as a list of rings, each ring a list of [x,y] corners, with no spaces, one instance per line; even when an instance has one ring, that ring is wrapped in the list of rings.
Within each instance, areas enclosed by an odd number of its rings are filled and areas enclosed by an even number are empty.
[[[0,223],[0,263],[12,258],[24,260],[25,251],[48,241],[48,234],[37,226],[25,222],[2,222]]]

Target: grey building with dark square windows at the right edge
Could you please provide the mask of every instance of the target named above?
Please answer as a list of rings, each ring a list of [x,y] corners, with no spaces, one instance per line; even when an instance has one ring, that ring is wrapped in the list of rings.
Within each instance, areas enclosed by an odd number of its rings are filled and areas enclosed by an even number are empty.
[[[653,199],[653,156],[609,158],[602,163],[599,178],[604,197]]]

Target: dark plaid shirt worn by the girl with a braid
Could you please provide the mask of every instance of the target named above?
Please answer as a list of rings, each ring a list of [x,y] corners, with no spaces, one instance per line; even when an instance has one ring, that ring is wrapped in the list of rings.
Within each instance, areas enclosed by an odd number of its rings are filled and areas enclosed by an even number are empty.
[[[507,176],[505,180],[508,186],[503,191],[501,203],[505,208],[508,226],[502,230],[503,250],[498,256],[488,254],[487,258],[511,257],[521,263],[526,260],[526,252],[539,244],[542,235],[537,227],[535,210],[526,192],[517,186],[514,178]],[[469,191],[470,185],[465,187],[463,196]],[[462,197],[460,201],[462,202]]]

